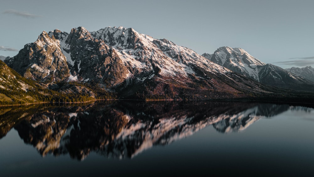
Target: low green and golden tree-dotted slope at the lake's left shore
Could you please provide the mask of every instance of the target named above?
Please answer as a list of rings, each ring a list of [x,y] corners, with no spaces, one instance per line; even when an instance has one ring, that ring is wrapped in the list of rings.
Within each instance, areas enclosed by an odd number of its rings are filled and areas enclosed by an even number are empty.
[[[47,89],[41,83],[22,77],[0,60],[0,106],[38,102],[85,102],[96,98],[112,98],[112,94],[106,91],[97,91],[79,84],[66,83],[59,86],[60,89],[57,91]]]

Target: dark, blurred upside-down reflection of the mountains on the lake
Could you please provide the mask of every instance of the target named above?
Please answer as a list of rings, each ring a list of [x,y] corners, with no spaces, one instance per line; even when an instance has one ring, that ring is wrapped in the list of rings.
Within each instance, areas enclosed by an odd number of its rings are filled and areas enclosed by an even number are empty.
[[[42,156],[90,152],[132,158],[154,145],[191,136],[208,125],[237,132],[261,118],[290,109],[312,108],[246,102],[116,102],[90,105],[7,108],[0,113],[0,137],[14,127]],[[1,141],[1,140],[0,140]]]

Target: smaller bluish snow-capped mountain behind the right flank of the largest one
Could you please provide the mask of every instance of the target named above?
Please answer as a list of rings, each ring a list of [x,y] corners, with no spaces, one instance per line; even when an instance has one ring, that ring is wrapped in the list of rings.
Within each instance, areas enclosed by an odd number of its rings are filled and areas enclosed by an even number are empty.
[[[314,90],[314,82],[305,80],[273,64],[265,64],[241,48],[220,47],[214,54],[204,53],[202,56],[266,85],[295,90]]]

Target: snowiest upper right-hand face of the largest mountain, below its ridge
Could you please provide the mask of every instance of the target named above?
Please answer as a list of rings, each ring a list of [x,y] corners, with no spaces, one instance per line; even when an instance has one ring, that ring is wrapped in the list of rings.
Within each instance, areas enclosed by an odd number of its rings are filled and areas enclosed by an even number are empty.
[[[189,59],[186,60],[187,64],[197,64],[198,66],[206,69],[210,69],[208,66],[219,68],[211,71],[230,72],[221,66],[213,64],[189,48],[178,46],[165,39],[158,40],[145,34],[139,34],[132,28],[126,29],[122,26],[118,28],[107,27],[91,32],[91,35],[97,39],[102,39],[106,44],[111,45],[111,47],[115,48],[119,53],[124,53],[127,50],[128,53],[132,53],[130,56],[132,56],[135,60],[143,57],[139,55],[143,49],[139,49],[138,47],[148,49],[150,53],[147,52],[145,57],[149,57],[154,62],[158,63],[161,68],[161,74],[164,75],[176,75],[182,73],[186,75],[186,72],[190,70],[186,69],[189,68],[187,65],[182,64],[182,59]],[[134,44],[130,44],[129,41],[134,41]],[[174,60],[174,58],[180,58],[180,56],[181,60]],[[164,58],[165,61],[160,63],[160,58]],[[193,58],[194,60],[191,60],[190,58]],[[194,72],[190,71],[190,74],[191,73]]]

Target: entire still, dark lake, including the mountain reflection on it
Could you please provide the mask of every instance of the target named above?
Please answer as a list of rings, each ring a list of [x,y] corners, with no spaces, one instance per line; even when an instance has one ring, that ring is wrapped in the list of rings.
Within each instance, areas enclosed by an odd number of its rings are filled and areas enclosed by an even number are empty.
[[[0,176],[313,176],[314,109],[248,102],[0,108]]]

